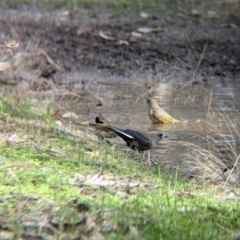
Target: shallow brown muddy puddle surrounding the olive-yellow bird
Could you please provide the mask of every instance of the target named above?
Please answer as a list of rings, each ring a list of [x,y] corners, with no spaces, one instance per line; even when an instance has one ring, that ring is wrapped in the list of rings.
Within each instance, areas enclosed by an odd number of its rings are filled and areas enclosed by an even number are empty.
[[[93,78],[84,84],[81,101],[71,106],[84,121],[93,122],[101,113],[117,127],[167,133],[168,139],[151,151],[156,165],[197,179],[224,182],[240,151],[239,90],[239,85],[218,77],[211,82],[158,84]],[[147,115],[149,94],[182,123],[152,124]],[[99,99],[102,106],[97,106]]]

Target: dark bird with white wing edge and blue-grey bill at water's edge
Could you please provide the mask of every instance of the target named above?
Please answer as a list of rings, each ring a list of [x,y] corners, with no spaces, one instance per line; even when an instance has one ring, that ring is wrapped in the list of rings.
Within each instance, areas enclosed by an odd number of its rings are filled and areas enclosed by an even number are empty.
[[[112,125],[105,124],[89,124],[98,130],[112,131],[121,137],[127,144],[127,146],[139,153],[148,151],[153,148],[160,140],[167,138],[166,134],[159,133],[158,131],[137,131],[132,129],[121,129]],[[148,162],[151,165],[149,151],[148,151]]]

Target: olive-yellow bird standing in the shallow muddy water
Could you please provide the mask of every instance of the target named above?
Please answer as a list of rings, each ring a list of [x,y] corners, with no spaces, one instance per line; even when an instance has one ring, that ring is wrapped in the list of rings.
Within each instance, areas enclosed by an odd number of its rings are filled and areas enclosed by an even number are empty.
[[[170,116],[165,110],[158,106],[156,99],[148,98],[148,116],[153,123],[180,123],[181,121]]]

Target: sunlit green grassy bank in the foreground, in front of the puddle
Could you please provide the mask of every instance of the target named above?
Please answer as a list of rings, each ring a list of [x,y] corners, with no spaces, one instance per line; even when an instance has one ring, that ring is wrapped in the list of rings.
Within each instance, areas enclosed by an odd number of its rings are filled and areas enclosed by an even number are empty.
[[[227,193],[217,186],[150,170],[132,158],[143,156],[81,137],[84,129],[78,130],[81,141],[70,139],[57,132],[53,119],[48,131],[32,122],[22,125],[25,114],[46,125],[44,112],[32,114],[28,100],[2,99],[0,118],[8,115],[11,121],[1,129],[16,123],[15,133],[25,141],[0,146],[0,238],[4,229],[16,239],[30,233],[63,239],[231,239],[239,229],[239,202],[223,202]],[[81,178],[90,181],[81,184]],[[104,181],[113,184],[99,187]],[[50,234],[44,216],[54,216],[57,233]]]

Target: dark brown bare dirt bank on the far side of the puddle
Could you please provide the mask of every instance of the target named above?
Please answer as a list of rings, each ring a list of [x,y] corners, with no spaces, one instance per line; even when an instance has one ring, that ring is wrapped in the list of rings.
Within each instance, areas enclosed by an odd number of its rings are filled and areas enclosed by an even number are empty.
[[[234,77],[240,73],[240,19],[237,14],[221,14],[214,18],[183,14],[152,15],[148,20],[131,14],[111,18],[100,12],[79,13],[0,10],[0,41],[14,39],[21,50],[36,53],[44,50],[62,72],[90,69],[114,75],[134,72],[157,73],[174,66],[198,70],[204,75]],[[141,26],[160,28],[160,31],[131,37]],[[102,30],[113,41],[99,36]],[[128,41],[129,45],[119,44]],[[40,69],[40,76],[49,78],[55,73],[48,63],[25,57],[25,68]]]

